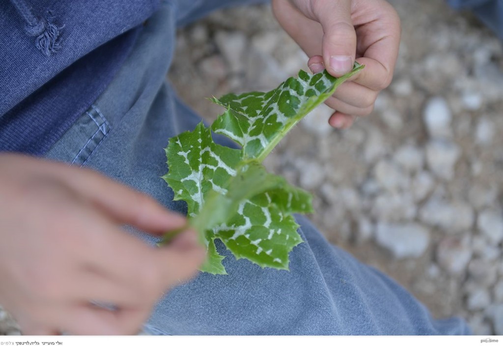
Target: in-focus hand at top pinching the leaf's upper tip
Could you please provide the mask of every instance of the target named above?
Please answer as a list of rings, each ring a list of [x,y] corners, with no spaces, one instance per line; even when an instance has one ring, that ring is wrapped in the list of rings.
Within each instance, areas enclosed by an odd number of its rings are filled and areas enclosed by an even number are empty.
[[[281,26],[310,57],[313,73],[349,72],[356,60],[365,68],[341,85],[325,103],[336,110],[329,123],[347,128],[353,116],[374,109],[388,87],[398,55],[400,20],[384,0],[273,0]]]

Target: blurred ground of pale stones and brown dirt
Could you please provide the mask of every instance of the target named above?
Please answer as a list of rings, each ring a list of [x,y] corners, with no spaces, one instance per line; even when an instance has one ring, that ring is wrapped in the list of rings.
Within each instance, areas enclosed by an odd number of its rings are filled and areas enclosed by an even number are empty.
[[[390,1],[402,20],[395,76],[348,130],[309,115],[268,167],[311,191],[326,237],[387,273],[435,317],[503,334],[503,50],[442,0]],[[212,14],[181,30],[169,74],[198,113],[205,98],[267,91],[307,57],[268,6]],[[0,310],[0,334],[19,333]]]

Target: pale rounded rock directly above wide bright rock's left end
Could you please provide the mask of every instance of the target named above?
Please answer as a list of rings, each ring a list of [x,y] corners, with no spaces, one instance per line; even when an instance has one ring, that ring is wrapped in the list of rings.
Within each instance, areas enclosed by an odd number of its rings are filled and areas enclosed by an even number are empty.
[[[372,216],[380,221],[399,222],[412,220],[417,207],[409,193],[383,193],[372,205]]]

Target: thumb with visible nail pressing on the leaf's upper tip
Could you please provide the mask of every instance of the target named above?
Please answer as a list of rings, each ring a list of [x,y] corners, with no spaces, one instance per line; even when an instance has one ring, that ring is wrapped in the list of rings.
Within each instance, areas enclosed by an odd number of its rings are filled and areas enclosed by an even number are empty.
[[[353,69],[356,32],[351,20],[351,0],[319,1],[314,14],[323,28],[322,54],[331,75],[340,77]]]

